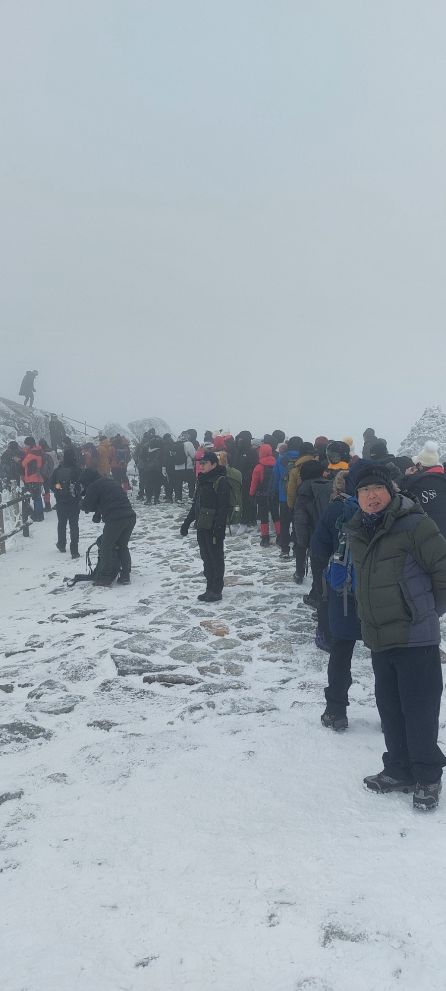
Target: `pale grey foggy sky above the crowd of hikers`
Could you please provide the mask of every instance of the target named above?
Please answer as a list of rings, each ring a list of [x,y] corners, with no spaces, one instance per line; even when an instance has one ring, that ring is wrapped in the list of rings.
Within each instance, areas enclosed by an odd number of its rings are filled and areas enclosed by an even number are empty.
[[[443,404],[436,0],[4,0],[0,394],[172,429]]]

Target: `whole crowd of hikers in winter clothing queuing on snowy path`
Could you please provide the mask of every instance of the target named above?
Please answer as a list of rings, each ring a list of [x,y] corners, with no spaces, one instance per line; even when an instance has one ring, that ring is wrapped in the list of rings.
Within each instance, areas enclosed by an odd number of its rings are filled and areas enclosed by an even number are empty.
[[[446,758],[437,743],[443,689],[439,616],[446,611],[446,476],[438,445],[426,440],[412,458],[389,453],[367,429],[361,456],[351,437],[313,442],[282,430],[262,438],[241,430],[196,430],[176,440],[154,429],[131,452],[126,437],[101,435],[82,447],[66,436],[55,415],[50,444],[11,441],[0,463],[2,488],[23,484],[33,496],[36,521],[55,496],[57,548],[78,558],[79,512],[104,522],[101,569],[94,584],[111,587],[119,550],[120,584],[130,584],[129,540],[136,514],[129,498],[134,460],[135,501],[144,506],[189,500],[181,525],[194,525],[206,590],[198,599],[223,598],[224,538],[243,537],[259,525],[260,546],[271,537],[280,561],[293,562],[302,585],[311,571],[315,644],[329,655],[322,725],[348,727],[348,692],[356,641],[370,648],[375,694],[387,750],[384,769],[364,779],[376,793],[411,792],[413,806],[436,808]],[[60,449],[60,456],[59,456]],[[43,498],[42,498],[43,493]],[[273,550],[273,548],[271,548]]]

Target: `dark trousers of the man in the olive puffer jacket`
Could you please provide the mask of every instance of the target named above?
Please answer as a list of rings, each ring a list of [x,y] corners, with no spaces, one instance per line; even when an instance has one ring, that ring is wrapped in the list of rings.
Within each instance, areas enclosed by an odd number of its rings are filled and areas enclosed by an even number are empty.
[[[439,647],[372,651],[372,664],[386,774],[422,785],[438,781],[446,764],[437,744],[443,691]]]

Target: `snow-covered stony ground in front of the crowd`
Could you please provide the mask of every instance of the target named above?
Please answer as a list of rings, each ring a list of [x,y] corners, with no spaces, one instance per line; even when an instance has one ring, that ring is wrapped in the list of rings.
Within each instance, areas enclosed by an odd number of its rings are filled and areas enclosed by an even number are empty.
[[[444,989],[446,798],[363,790],[369,652],[323,729],[310,583],[251,531],[200,605],[184,507],[136,507],[130,588],[67,589],[55,512],[0,558],[1,987]],[[81,514],[81,549],[99,532]]]

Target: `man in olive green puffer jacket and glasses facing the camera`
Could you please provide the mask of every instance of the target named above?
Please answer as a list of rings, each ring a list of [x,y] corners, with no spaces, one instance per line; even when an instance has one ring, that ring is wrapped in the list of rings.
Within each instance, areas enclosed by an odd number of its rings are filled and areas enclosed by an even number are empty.
[[[358,472],[355,489],[360,509],[343,529],[387,746],[384,771],[364,784],[381,793],[413,791],[416,809],[434,809],[446,764],[437,745],[446,540],[416,498],[395,492],[384,466]]]

